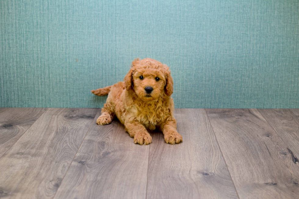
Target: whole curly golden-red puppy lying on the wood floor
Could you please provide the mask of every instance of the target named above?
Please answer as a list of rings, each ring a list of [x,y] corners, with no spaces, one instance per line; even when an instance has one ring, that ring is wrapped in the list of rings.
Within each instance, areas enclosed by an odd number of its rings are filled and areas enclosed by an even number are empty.
[[[109,124],[116,116],[124,124],[134,142],[149,144],[152,137],[148,130],[159,128],[166,143],[180,143],[183,139],[177,132],[173,116],[173,80],[168,66],[157,60],[135,59],[124,82],[91,91],[95,95],[108,94],[99,125]]]

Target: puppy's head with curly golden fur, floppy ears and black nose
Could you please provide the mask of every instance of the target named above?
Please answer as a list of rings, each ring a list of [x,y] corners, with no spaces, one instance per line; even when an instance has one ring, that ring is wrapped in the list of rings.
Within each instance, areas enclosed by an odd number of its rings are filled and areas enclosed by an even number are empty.
[[[124,78],[126,89],[132,89],[144,101],[155,100],[173,92],[173,80],[169,67],[157,60],[135,59]]]

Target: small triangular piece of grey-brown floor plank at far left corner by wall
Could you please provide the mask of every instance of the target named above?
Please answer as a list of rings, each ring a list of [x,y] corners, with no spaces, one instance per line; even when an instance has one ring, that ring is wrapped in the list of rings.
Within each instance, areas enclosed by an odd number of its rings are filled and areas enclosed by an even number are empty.
[[[46,108],[0,108],[0,158]]]

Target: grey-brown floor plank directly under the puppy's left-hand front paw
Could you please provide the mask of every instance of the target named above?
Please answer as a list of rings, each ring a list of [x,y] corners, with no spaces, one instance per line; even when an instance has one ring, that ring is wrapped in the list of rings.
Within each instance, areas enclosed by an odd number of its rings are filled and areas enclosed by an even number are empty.
[[[119,121],[94,121],[54,198],[145,199],[148,155]]]

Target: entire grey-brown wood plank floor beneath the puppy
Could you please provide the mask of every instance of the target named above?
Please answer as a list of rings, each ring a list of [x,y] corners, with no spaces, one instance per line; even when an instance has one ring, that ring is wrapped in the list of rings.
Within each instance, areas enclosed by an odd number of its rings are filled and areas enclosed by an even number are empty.
[[[176,109],[134,144],[96,108],[0,108],[0,198],[299,198],[299,109]]]

